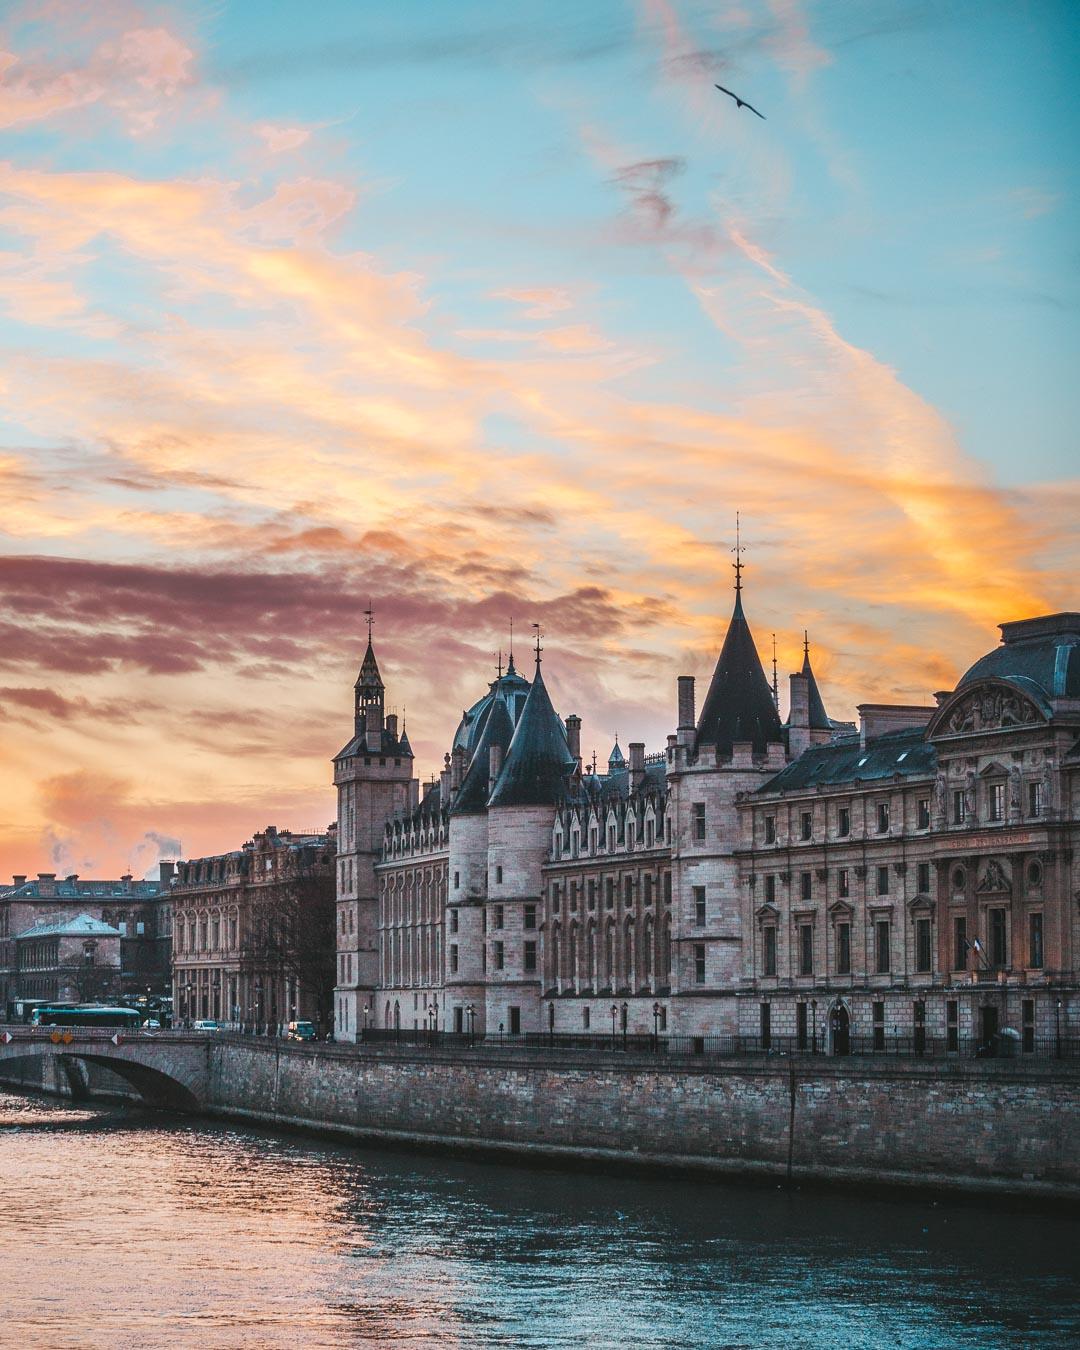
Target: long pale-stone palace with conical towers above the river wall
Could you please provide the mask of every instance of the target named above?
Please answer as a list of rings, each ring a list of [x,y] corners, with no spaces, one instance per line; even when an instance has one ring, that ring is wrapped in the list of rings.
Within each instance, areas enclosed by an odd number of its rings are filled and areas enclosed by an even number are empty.
[[[1033,1052],[1080,1033],[1080,614],[1002,625],[925,706],[829,717],[805,644],[780,721],[744,610],[697,710],[580,757],[500,671],[423,796],[369,630],[335,760],[338,1031]]]

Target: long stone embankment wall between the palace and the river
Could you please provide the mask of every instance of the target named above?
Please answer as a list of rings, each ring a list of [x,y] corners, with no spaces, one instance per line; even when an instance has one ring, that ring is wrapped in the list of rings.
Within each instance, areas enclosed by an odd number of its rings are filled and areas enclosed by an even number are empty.
[[[1080,1065],[633,1057],[221,1041],[215,1114],[593,1166],[1080,1200]]]

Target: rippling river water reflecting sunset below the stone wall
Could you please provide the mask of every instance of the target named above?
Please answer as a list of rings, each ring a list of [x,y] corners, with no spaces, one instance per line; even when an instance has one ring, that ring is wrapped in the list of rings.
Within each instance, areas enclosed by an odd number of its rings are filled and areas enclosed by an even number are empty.
[[[1066,1346],[1080,1224],[0,1094],[0,1345]]]

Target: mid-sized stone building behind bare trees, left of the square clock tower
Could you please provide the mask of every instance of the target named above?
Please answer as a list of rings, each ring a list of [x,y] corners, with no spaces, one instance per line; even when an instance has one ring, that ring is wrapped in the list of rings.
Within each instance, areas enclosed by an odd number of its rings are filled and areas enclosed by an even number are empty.
[[[242,848],[180,863],[173,1008],[261,1031],[327,1025],[335,969],[336,832],[269,825]]]

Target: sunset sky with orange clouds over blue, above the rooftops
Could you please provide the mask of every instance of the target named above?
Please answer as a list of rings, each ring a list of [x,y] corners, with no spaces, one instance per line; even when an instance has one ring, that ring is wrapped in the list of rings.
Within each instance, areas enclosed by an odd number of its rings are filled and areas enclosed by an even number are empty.
[[[659,749],[737,510],[837,718],[1077,608],[1079,59],[1071,0],[0,4],[0,875],[325,826],[369,603],[421,778],[512,618]]]

